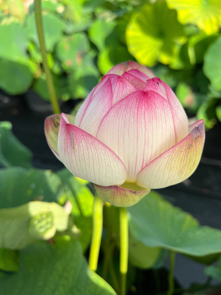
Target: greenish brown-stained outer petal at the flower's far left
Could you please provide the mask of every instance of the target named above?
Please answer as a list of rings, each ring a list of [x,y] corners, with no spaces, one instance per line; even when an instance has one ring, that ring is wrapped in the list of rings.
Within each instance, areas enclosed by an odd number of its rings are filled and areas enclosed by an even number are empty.
[[[75,117],[71,115],[67,115],[70,122],[74,123]],[[55,156],[60,160],[58,151],[57,151],[57,140],[58,140],[58,132],[60,128],[61,122],[61,114],[52,115],[47,117],[44,122],[44,133],[46,136],[47,143],[55,154]]]

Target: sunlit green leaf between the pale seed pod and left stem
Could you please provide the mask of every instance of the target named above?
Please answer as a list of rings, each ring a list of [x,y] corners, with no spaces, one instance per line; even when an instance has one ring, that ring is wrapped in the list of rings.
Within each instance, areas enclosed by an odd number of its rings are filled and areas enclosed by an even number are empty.
[[[72,204],[71,214],[76,226],[81,230],[80,242],[86,250],[92,235],[92,214],[94,197],[86,184],[87,181],[73,176],[66,168],[57,173],[62,183],[60,202],[69,200]]]

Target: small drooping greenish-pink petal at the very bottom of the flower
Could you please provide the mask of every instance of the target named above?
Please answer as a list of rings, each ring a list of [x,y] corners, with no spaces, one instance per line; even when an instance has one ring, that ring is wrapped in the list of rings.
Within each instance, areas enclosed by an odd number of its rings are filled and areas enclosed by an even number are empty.
[[[121,186],[99,186],[94,185],[98,196],[117,207],[128,207],[136,204],[142,199],[148,191],[132,191],[131,189],[123,189]]]

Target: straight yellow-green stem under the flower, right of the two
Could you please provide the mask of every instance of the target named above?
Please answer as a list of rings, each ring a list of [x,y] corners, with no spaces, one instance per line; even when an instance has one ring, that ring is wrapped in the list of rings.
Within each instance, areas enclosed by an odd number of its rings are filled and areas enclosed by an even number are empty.
[[[121,295],[126,294],[126,277],[128,268],[128,216],[127,208],[120,208],[120,273]]]

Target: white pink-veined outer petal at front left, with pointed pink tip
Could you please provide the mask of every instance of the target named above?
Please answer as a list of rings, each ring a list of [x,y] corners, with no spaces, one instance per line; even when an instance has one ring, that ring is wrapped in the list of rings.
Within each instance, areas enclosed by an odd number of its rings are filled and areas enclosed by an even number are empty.
[[[69,124],[62,114],[58,134],[60,160],[75,176],[109,186],[122,184],[127,170],[118,156],[84,130]]]

